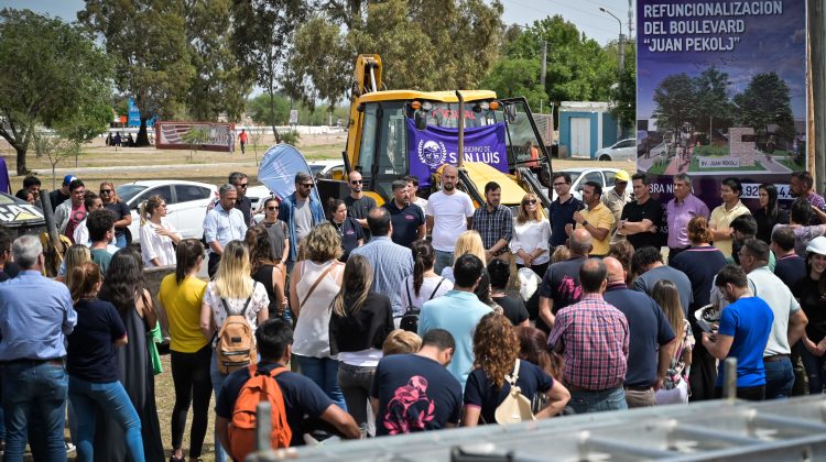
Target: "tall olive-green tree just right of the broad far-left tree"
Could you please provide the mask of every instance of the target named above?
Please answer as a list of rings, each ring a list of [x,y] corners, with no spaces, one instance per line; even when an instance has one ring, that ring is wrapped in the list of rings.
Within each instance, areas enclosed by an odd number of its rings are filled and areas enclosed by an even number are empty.
[[[141,111],[135,143],[149,145],[146,120],[172,118],[186,101],[189,61],[184,0],[86,0],[78,19],[106,38],[117,85]]]

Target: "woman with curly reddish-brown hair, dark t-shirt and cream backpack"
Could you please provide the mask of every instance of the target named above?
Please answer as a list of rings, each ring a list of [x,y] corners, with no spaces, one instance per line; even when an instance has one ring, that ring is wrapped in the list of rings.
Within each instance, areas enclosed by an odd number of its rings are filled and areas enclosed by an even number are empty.
[[[544,394],[546,406],[536,413],[536,419],[544,419],[562,413],[570,394],[541,367],[519,360],[520,341],[511,321],[503,315],[485,315],[474,332],[474,371],[465,386],[465,415],[463,427],[476,427],[496,422],[496,409],[510,394],[513,372],[519,377],[514,384],[528,399]],[[517,366],[519,370],[517,370]]]

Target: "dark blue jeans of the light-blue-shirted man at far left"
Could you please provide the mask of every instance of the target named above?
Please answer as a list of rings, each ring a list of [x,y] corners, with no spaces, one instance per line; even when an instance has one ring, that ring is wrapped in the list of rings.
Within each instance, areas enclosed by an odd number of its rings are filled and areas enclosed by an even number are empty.
[[[29,416],[39,411],[48,461],[66,461],[63,427],[66,422],[68,375],[63,364],[14,361],[2,366],[6,411],[4,461],[22,461]]]

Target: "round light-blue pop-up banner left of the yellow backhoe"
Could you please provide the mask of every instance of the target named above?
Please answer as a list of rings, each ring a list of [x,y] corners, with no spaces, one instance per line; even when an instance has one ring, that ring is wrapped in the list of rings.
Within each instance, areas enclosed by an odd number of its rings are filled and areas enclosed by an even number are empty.
[[[264,153],[261,165],[258,167],[258,180],[270,188],[279,200],[284,200],[285,197],[295,193],[295,174],[298,172],[313,175],[304,155],[298,150],[290,144],[278,144]],[[313,180],[315,182],[315,178]],[[311,194],[314,200],[320,202],[318,188],[313,188]]]

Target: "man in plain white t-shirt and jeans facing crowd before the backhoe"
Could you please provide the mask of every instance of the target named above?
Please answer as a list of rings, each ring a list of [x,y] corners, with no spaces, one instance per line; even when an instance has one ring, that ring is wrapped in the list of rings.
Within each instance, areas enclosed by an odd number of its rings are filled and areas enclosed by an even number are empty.
[[[427,230],[433,232],[433,249],[436,251],[434,271],[442,274],[445,266],[453,266],[453,251],[459,234],[472,224],[474,201],[470,196],[456,189],[459,169],[446,165],[442,172],[442,190],[431,195],[425,208]]]

